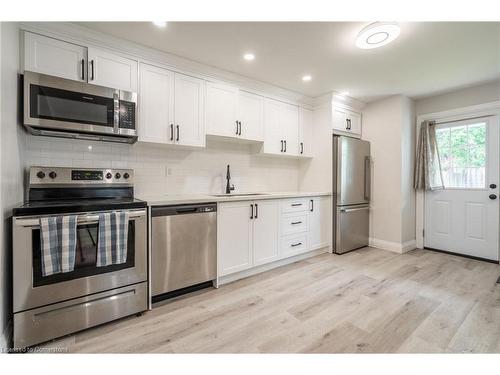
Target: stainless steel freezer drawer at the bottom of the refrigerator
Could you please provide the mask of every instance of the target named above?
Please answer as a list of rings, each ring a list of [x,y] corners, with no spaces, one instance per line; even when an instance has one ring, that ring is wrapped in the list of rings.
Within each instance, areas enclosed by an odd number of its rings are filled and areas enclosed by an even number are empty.
[[[334,252],[343,254],[368,246],[368,205],[337,207],[334,220]]]

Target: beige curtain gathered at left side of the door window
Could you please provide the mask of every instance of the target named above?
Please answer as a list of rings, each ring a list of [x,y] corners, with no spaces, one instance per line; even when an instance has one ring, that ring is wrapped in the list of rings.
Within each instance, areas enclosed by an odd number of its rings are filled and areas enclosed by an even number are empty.
[[[420,125],[413,186],[423,190],[444,189],[434,121]]]

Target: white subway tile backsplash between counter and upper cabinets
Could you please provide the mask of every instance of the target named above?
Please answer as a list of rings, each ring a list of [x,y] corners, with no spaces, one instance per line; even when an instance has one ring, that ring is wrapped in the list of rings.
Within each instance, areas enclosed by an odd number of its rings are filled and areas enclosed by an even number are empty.
[[[28,135],[26,146],[26,167],[131,168],[138,195],[221,193],[227,164],[236,191],[298,188],[298,160],[262,157],[247,144],[211,140],[205,149],[188,150]]]

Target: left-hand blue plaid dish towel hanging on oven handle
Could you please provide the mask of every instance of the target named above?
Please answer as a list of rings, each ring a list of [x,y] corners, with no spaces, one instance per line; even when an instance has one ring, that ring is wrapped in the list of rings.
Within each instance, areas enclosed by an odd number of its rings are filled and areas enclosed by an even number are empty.
[[[42,275],[71,272],[75,268],[76,216],[40,219]]]

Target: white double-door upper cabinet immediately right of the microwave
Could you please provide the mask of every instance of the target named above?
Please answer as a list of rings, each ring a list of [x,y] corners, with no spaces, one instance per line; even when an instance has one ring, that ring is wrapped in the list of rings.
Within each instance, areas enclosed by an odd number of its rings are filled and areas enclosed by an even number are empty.
[[[205,146],[201,79],[140,65],[139,141]]]

